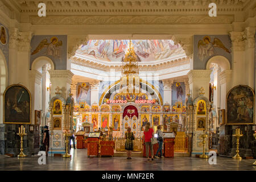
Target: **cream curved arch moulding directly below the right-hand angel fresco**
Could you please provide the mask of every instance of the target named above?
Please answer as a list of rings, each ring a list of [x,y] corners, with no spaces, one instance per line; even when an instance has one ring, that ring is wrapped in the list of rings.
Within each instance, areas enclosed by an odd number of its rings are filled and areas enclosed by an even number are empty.
[[[221,68],[221,72],[230,69],[229,60],[224,56],[213,56],[207,61],[206,69],[210,69],[210,64],[216,63]]]

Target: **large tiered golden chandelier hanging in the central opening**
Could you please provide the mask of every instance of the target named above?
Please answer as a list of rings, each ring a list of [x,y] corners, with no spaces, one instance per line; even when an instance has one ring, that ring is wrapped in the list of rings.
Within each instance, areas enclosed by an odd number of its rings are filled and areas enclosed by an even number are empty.
[[[141,85],[139,84],[139,67],[137,55],[133,47],[131,47],[131,40],[129,49],[127,50],[122,62],[122,77],[120,79],[119,93],[140,93]]]

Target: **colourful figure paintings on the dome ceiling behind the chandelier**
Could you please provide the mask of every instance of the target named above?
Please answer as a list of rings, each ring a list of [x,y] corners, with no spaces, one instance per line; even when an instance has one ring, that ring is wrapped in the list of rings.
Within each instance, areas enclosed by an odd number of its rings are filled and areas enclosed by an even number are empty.
[[[129,48],[130,40],[89,40],[82,45],[76,55],[84,59],[121,62]],[[134,51],[139,57],[138,61],[158,61],[171,59],[179,55],[184,56],[185,51],[172,40],[131,40]]]

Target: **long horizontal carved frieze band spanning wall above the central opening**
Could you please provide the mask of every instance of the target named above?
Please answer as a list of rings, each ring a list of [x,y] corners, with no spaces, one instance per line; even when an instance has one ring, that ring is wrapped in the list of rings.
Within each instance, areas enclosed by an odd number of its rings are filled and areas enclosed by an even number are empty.
[[[114,16],[65,16],[48,15],[46,17],[30,16],[31,24],[230,24],[233,15],[219,15],[214,18],[208,15],[114,15]]]

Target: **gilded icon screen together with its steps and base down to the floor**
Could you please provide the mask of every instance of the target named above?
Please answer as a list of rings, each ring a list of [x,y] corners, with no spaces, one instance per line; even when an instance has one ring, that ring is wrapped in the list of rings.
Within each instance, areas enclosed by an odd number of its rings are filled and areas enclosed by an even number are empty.
[[[185,135],[185,106],[182,103],[173,106],[169,104],[135,104],[133,102],[100,106],[80,103],[80,105],[75,105],[73,115],[73,125],[76,125],[77,130],[84,128],[85,131],[84,147],[82,148],[87,148],[86,138],[89,133],[101,128],[104,135],[100,141],[114,142],[114,156],[126,155],[124,136],[127,127],[131,127],[131,131],[135,135],[133,155],[142,155],[142,137],[147,122],[151,124],[154,131],[157,130],[158,125],[162,125],[164,133],[175,133],[174,152],[176,156],[180,156],[177,155],[178,153],[188,154],[188,137]],[[87,129],[88,127],[89,129]],[[163,150],[164,147],[165,144]],[[155,148],[154,152],[158,146]]]

